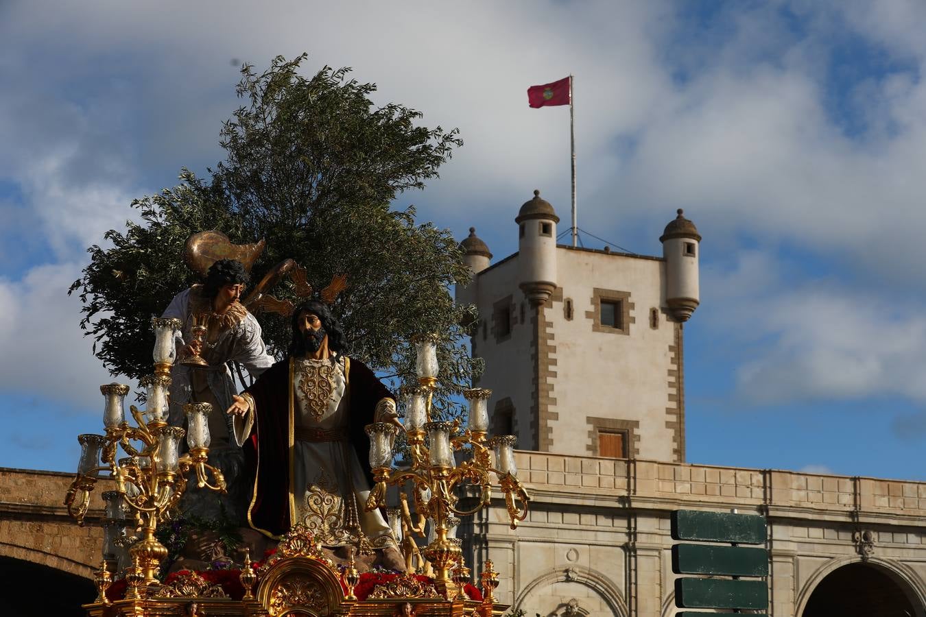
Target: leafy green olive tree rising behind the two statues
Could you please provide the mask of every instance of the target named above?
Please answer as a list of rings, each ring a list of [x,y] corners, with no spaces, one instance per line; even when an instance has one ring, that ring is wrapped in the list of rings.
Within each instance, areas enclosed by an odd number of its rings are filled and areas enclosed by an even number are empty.
[[[382,375],[413,376],[407,340],[439,333],[438,401],[446,412],[448,397],[479,368],[462,345],[467,309],[449,293],[468,282],[469,271],[448,230],[416,221],[414,207],[391,204],[436,178],[462,141],[457,130],[421,126],[414,109],[373,105],[376,85],[350,80],[349,68],[303,76],[305,59],[278,56],[261,73],[245,65],[237,86],[244,105],[219,135],[225,160],[203,178],[183,168],[178,186],[131,203],[140,216],[106,233],[111,246],[88,249],[91,263],[70,288],[83,302],[81,327],[110,372],[143,376],[151,367],[151,318],[197,281],[181,260],[187,238],[213,228],[234,242],[263,238],[258,277],[286,258],[306,267],[316,290],[347,276],[333,311],[352,353]],[[296,300],[287,281],[272,293]],[[287,320],[256,316],[281,356]]]

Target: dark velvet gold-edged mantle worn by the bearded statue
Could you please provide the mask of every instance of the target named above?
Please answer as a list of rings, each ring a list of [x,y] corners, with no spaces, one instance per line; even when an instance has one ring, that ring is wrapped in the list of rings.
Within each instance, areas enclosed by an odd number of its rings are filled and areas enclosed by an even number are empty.
[[[244,391],[255,401],[257,418],[251,437],[244,443],[245,461],[254,477],[248,523],[257,531],[280,537],[289,531],[290,472],[293,465],[293,373],[289,358],[273,364]],[[350,442],[357,451],[369,486],[369,437],[364,426],[373,422],[376,405],[394,396],[373,375],[366,364],[347,358],[344,396],[348,397]],[[362,508],[363,504],[359,504]]]

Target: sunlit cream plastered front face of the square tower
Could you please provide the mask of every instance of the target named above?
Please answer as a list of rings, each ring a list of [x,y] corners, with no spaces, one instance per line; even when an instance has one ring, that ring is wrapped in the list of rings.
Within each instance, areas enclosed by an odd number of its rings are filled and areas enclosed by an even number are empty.
[[[557,350],[557,376],[550,378],[558,413],[552,451],[589,454],[585,418],[595,416],[639,422],[638,456],[674,460],[666,407],[669,395],[676,394],[669,389],[675,324],[660,310],[665,263],[562,247],[557,257],[563,300],[546,311]],[[629,334],[593,331],[593,319],[586,315],[594,312],[595,288],[630,292]],[[567,299],[573,302],[571,321],[564,315]],[[650,327],[651,308],[660,310],[657,329]],[[632,453],[634,444],[628,447]]]

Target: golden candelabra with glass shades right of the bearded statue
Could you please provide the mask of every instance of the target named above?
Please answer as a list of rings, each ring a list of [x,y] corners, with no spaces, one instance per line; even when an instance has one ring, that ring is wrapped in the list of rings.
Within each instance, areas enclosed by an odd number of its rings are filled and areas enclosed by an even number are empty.
[[[449,520],[457,516],[467,516],[479,512],[492,500],[492,474],[498,477],[499,487],[505,495],[511,528],[517,527],[527,515],[530,498],[517,477],[514,462],[514,436],[506,435],[487,439],[488,434],[488,399],[492,394],[488,389],[468,389],[464,396],[469,401],[468,426],[461,430],[459,420],[454,422],[432,422],[432,396],[437,384],[437,339],[433,336],[413,339],[417,348],[416,369],[418,384],[402,389],[406,400],[406,413],[403,429],[405,430],[411,465],[407,468],[392,467],[393,442],[395,426],[387,423],[375,423],[366,427],[370,438],[369,463],[373,471],[375,485],[369,493],[366,509],[385,507],[388,486],[398,486],[406,482],[414,484],[415,510],[419,517],[432,521],[434,538],[422,550],[424,557],[431,562],[434,579],[445,593],[457,594],[462,585],[462,577],[453,572],[465,566],[462,562],[462,549],[456,538],[448,537],[452,526]],[[494,449],[494,465],[492,453]],[[462,456],[458,457],[455,452]],[[468,460],[457,463],[458,458],[469,455]],[[469,510],[457,508],[457,488],[465,484],[480,487],[480,499]],[[407,506],[402,512],[402,528],[420,533],[422,524],[412,524]],[[407,538],[403,538],[406,553],[411,547]],[[411,562],[406,554],[407,563]],[[448,596],[449,597],[449,596]]]

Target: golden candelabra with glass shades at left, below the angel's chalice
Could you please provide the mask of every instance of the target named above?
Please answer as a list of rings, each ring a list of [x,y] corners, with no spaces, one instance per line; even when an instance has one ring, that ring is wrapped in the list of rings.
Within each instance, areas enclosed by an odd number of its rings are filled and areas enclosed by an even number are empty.
[[[106,398],[105,435],[78,437],[81,460],[65,497],[69,514],[82,525],[97,478],[108,471],[115,479],[116,490],[112,491],[115,494],[106,495],[106,525],[115,527],[125,518],[123,514],[131,514],[135,530],[141,534],[129,549],[131,567],[126,568],[125,574],[130,586],[127,598],[141,597],[142,589],[156,583],[157,570],[168,555],[168,549],[155,537],[157,524],[180,501],[188,475],[195,473],[200,488],[225,492],[222,473],[206,463],[209,451],[207,421],[212,405],[200,402],[183,406],[187,431],[168,425],[170,366],[176,359],[174,337],[181,322],[179,319],[155,319],[153,326],[155,375],[139,381],[147,390],[144,412],[131,405],[131,417],[136,426],[130,426],[124,409],[129,387],[115,383],[100,386]],[[190,450],[180,456],[184,434]],[[128,458],[117,459],[119,447]],[[106,545],[114,543],[113,535],[111,531],[107,533]],[[104,546],[104,565],[98,576],[101,586],[109,583],[106,561],[111,561],[115,551],[111,546]]]

